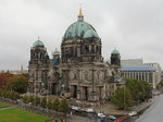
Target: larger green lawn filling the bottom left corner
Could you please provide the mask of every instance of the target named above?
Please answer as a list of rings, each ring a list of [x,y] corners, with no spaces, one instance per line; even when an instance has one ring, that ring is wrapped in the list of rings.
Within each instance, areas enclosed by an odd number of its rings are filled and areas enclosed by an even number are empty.
[[[47,120],[50,119],[17,108],[0,110],[0,122],[45,122]]]

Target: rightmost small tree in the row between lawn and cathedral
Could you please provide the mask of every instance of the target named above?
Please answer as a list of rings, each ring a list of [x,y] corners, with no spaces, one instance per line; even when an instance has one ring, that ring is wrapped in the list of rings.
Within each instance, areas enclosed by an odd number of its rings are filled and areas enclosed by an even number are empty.
[[[68,112],[70,107],[66,98],[61,99],[59,110],[64,113]]]

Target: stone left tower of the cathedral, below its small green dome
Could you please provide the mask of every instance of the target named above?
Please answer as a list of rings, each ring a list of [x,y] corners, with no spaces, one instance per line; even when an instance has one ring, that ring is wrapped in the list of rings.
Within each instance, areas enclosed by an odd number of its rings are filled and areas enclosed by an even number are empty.
[[[47,91],[49,69],[50,69],[50,59],[45,46],[33,47],[30,49],[30,61],[28,66],[29,93],[45,94]]]

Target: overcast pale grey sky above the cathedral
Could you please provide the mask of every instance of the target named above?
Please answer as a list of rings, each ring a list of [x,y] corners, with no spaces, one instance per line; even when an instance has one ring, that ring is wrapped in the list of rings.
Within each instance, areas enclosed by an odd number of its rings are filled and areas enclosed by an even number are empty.
[[[27,69],[38,37],[50,57],[60,50],[79,4],[101,38],[104,60],[116,48],[122,59],[163,66],[163,0],[0,0],[0,70]]]

